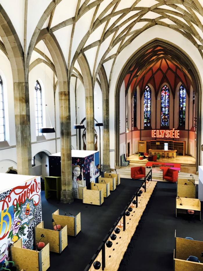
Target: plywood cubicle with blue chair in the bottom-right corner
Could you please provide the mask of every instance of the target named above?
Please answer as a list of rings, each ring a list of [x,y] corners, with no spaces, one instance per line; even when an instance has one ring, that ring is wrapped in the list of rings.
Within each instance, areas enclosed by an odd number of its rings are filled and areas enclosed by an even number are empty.
[[[174,270],[175,271],[202,271],[203,270],[203,242],[177,238],[175,236]],[[200,263],[187,261],[189,256],[195,256]]]

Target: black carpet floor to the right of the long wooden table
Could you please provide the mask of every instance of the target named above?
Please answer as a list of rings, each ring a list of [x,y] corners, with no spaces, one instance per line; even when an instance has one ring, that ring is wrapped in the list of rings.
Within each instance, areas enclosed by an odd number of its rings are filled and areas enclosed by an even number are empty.
[[[134,241],[126,271],[172,271],[176,236],[203,241],[203,225],[183,215],[175,217],[176,184],[157,183],[158,191],[138,240]],[[190,255],[188,255],[190,256]]]

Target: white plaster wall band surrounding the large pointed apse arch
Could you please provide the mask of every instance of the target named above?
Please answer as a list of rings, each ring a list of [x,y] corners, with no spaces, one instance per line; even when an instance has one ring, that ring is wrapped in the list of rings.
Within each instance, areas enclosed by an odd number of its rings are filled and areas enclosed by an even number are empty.
[[[183,51],[190,56],[196,65],[197,72],[199,72],[202,79],[203,74],[203,60],[200,56],[198,49],[183,35],[177,31],[166,28],[164,26],[153,26],[148,30],[141,33],[131,44],[129,44],[116,59],[115,67],[112,73],[112,81],[109,89],[109,100],[114,101],[114,95],[116,90],[116,82],[118,80],[119,74],[122,67],[125,65],[127,60],[132,56],[133,52],[139,49],[142,45],[149,42],[150,40],[162,39],[173,43],[182,48]],[[115,138],[114,138],[114,103],[109,106],[109,133],[110,133],[110,149],[115,148]],[[176,128],[176,127],[174,127]],[[202,154],[201,154],[202,155]],[[114,168],[115,155],[110,156],[110,166]]]

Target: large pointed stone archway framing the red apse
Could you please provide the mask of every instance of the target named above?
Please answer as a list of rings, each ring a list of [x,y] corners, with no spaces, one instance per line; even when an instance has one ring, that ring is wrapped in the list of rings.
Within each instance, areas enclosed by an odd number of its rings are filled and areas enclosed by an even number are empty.
[[[196,154],[196,171],[198,171],[198,166],[201,165],[202,155],[201,155],[201,142],[202,142],[202,81],[199,76],[199,72],[196,68],[193,60],[184,52],[180,47],[172,44],[171,42],[165,40],[151,40],[150,42],[144,44],[140,47],[132,56],[126,61],[123,66],[117,82],[116,82],[116,91],[114,95],[114,104],[115,104],[115,167],[120,167],[120,136],[119,136],[119,123],[120,123],[120,90],[121,85],[124,81],[127,69],[133,64],[139,61],[142,58],[143,51],[150,50],[153,46],[165,47],[170,50],[170,54],[173,55],[174,58],[179,59],[181,64],[190,74],[192,81],[194,83],[194,91],[197,94],[197,154]]]

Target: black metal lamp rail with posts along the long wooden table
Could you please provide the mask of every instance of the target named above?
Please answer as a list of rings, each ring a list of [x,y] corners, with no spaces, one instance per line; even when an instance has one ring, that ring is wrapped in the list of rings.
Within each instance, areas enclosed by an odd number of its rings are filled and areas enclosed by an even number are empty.
[[[112,226],[112,228],[110,229],[110,231],[108,232],[108,234],[103,239],[101,245],[97,249],[97,252],[91,258],[91,261],[86,266],[86,268],[85,268],[84,271],[88,271],[91,268],[91,266],[93,265],[94,261],[96,260],[96,257],[98,256],[98,254],[100,253],[101,250],[102,250],[102,270],[104,270],[104,268],[105,268],[105,244],[106,244],[107,240],[109,239],[110,235],[112,234],[112,232],[114,231],[114,229],[116,228],[118,222],[121,220],[122,217],[123,217],[123,231],[125,231],[125,212],[127,211],[127,208],[130,206],[130,204],[132,203],[132,201],[133,201],[133,199],[135,197],[136,197],[136,208],[138,207],[138,195],[137,195],[137,193],[139,192],[139,190],[143,186],[143,184],[145,185],[144,191],[146,192],[146,180],[152,181],[152,169],[148,172],[147,176],[144,178],[144,181],[137,188],[136,192],[134,193],[134,195],[132,196],[132,198],[130,199],[130,201],[127,203],[127,205],[125,206],[124,210],[119,215],[118,219],[116,220],[116,222],[114,223],[114,225]]]

